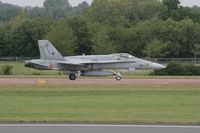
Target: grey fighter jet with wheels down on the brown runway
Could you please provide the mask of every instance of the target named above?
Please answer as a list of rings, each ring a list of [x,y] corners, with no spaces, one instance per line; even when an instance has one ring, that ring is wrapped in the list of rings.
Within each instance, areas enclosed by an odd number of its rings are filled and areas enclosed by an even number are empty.
[[[77,76],[115,76],[116,80],[121,80],[122,76],[116,70],[165,68],[127,53],[63,57],[48,40],[39,40],[38,45],[40,59],[26,61],[25,67],[63,71],[70,80],[76,80]]]

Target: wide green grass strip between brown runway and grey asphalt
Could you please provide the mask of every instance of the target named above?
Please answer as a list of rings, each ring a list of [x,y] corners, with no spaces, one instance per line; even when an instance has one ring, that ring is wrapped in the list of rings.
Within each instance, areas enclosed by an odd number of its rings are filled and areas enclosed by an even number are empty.
[[[0,122],[200,124],[200,86],[0,86]]]

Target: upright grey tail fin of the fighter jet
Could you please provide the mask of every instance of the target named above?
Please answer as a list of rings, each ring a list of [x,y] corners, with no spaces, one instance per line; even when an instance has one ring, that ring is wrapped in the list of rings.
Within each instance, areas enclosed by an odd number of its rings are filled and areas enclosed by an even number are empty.
[[[40,57],[44,60],[65,60],[64,57],[58,52],[58,50],[48,41],[38,41],[40,49]]]

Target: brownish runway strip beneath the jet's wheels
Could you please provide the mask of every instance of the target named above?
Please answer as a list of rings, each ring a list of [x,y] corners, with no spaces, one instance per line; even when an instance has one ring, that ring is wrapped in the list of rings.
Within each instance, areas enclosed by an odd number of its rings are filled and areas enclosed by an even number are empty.
[[[187,78],[127,78],[116,81],[112,78],[79,78],[70,81],[66,78],[0,78],[1,85],[36,85],[45,83],[47,85],[200,85],[200,79]]]

